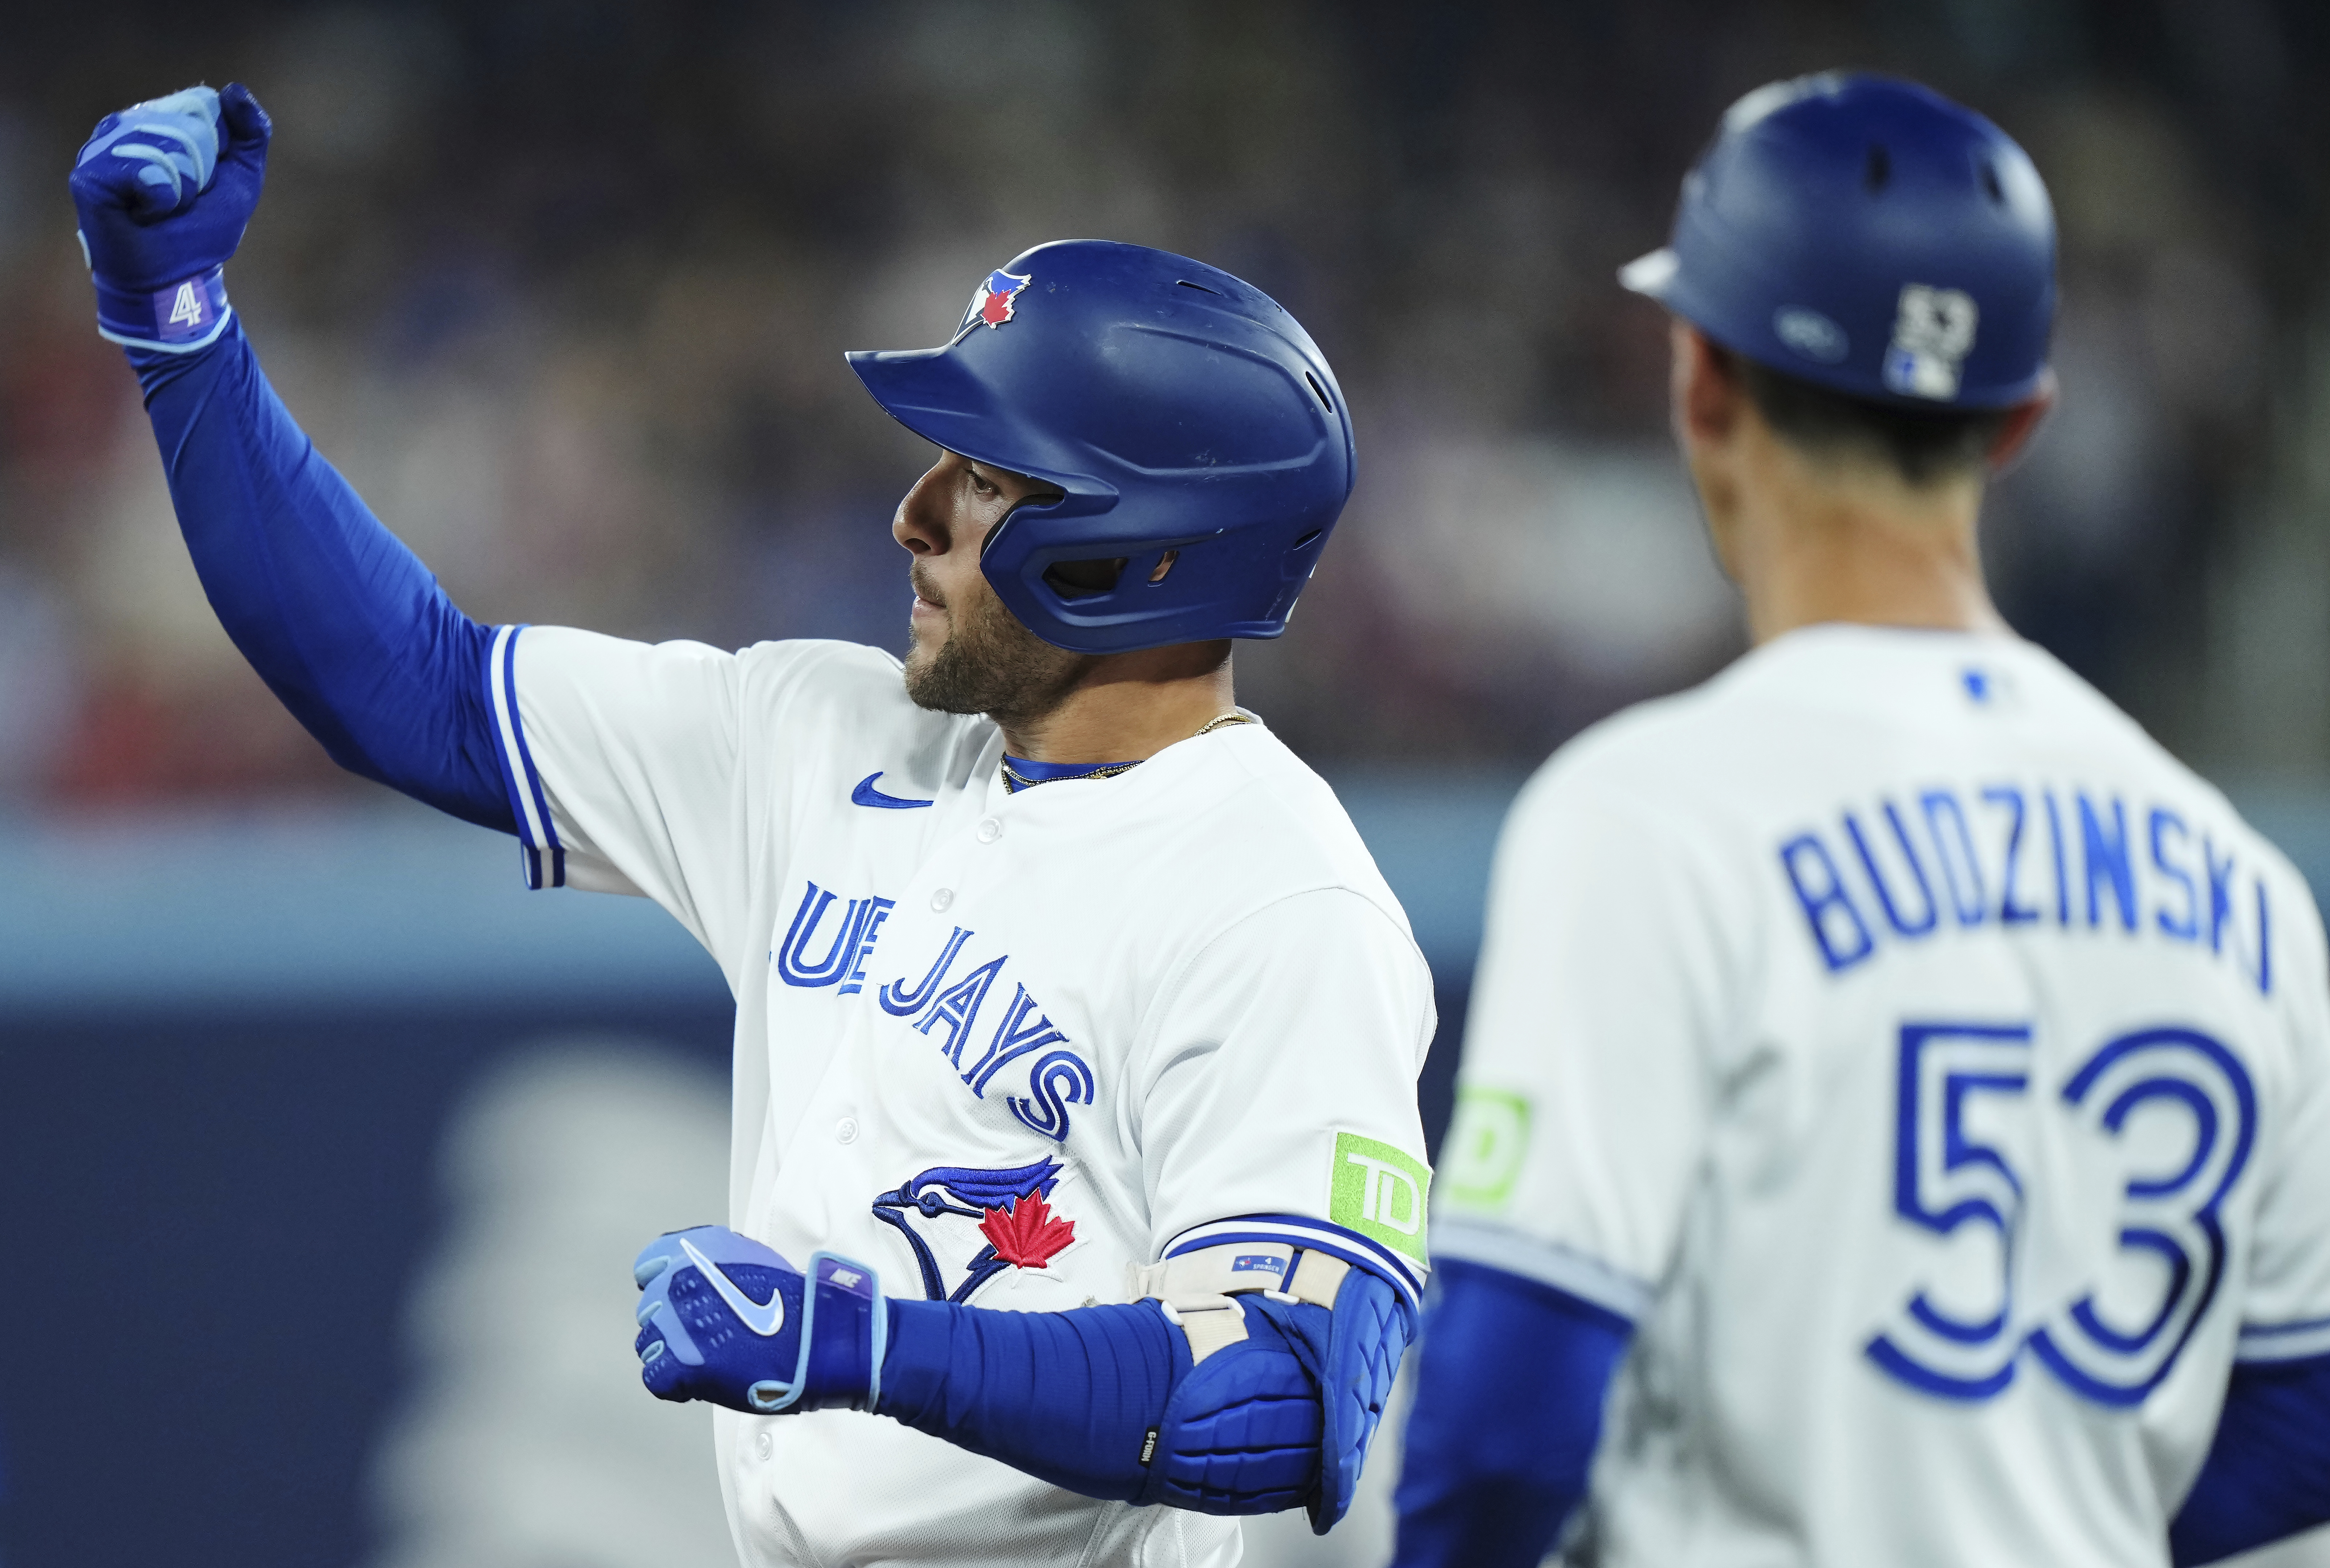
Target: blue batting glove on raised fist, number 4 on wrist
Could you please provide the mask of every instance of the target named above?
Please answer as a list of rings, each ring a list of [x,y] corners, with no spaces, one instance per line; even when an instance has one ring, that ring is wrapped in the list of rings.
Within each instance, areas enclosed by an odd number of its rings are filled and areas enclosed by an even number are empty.
[[[72,205],[105,338],[191,354],[226,329],[221,268],[259,205],[270,130],[240,82],[98,121],[72,165]]]

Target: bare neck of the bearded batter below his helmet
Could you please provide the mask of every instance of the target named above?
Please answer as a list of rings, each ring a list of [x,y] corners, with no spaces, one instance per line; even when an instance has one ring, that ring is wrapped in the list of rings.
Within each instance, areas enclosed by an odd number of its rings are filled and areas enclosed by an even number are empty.
[[[1237,706],[1230,641],[1093,659],[1058,704],[1002,715],[1004,750],[1030,762],[1142,762]]]

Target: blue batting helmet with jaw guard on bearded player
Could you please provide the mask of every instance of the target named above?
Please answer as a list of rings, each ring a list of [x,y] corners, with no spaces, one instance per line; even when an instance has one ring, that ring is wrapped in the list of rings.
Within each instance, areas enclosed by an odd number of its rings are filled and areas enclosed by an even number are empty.
[[[1014,508],[979,566],[1074,652],[1277,636],[1351,494],[1351,417],[1309,333],[1261,289],[1144,245],[1037,245],[979,284],[944,347],[850,368],[916,436],[1065,492]],[[1125,561],[1116,587],[1044,578],[1090,559]]]

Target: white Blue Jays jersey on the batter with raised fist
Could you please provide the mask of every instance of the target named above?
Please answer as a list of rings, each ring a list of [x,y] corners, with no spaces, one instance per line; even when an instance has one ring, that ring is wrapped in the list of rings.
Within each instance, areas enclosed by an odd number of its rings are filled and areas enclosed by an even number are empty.
[[[1128,1300],[1174,1246],[1328,1221],[1414,1291],[1431,974],[1263,725],[1007,794],[993,722],[916,708],[848,643],[503,629],[492,697],[531,878],[643,892],[727,974],[736,1230],[890,1295],[1053,1312]],[[1095,1503],[888,1417],[715,1433],[753,1568],[1237,1559],[1235,1519]]]

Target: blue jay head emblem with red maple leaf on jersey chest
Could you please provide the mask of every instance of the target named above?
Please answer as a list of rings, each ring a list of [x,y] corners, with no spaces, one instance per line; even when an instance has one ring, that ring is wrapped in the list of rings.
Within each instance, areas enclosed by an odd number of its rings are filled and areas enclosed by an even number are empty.
[[[913,1249],[930,1300],[969,1300],[1007,1267],[1044,1267],[1076,1239],[1076,1223],[1048,1209],[1058,1160],[981,1170],[932,1165],[874,1200],[874,1219]]]

